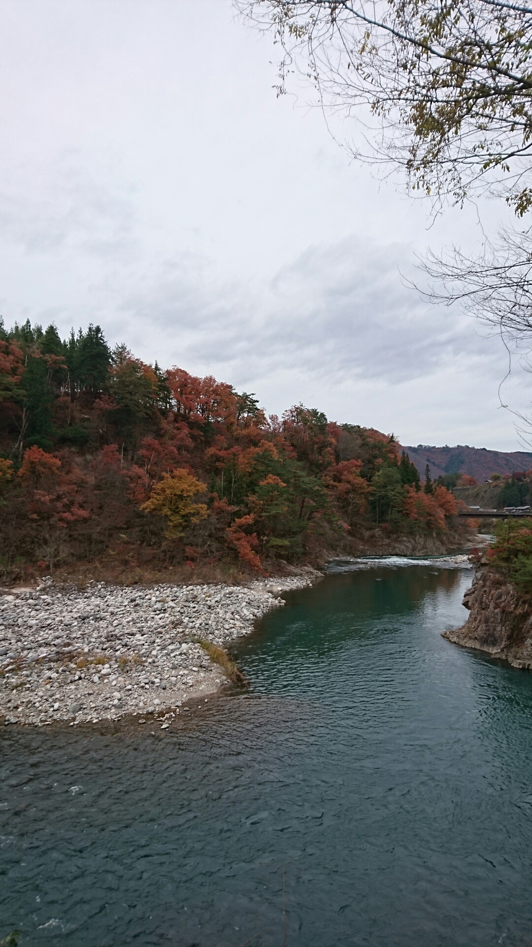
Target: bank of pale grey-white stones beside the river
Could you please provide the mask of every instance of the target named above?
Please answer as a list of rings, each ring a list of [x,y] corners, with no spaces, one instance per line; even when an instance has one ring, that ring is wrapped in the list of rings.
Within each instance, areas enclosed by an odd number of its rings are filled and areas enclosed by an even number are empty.
[[[280,593],[321,573],[234,585],[150,588],[44,580],[0,597],[0,723],[43,726],[152,715],[162,721],[225,682],[200,641],[218,648],[280,608]],[[212,651],[212,650],[211,650]]]

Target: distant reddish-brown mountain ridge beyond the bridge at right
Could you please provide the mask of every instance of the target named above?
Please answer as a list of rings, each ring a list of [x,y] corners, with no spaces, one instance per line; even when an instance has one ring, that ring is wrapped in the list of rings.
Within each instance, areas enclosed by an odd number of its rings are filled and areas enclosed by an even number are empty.
[[[456,447],[404,445],[400,450],[408,454],[423,478],[429,464],[433,480],[444,474],[470,474],[482,483],[489,479],[490,474],[513,474],[514,471],[532,468],[532,453],[524,451],[488,451],[486,447],[469,447],[468,444],[457,444]]]

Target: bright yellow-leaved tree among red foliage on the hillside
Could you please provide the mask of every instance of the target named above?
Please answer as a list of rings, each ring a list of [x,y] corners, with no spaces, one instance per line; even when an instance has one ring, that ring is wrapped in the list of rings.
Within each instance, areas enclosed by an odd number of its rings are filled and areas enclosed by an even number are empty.
[[[180,468],[173,474],[163,474],[163,479],[153,487],[150,499],[142,504],[141,509],[165,516],[168,536],[183,536],[186,527],[199,523],[207,515],[204,503],[191,502],[193,496],[205,490],[201,480]]]

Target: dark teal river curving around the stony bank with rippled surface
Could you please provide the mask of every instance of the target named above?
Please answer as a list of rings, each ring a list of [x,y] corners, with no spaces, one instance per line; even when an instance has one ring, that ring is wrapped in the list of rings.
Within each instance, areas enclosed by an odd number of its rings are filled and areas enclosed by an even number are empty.
[[[166,734],[0,734],[0,939],[532,944],[532,674],[461,650],[468,569],[286,596],[250,688]]]

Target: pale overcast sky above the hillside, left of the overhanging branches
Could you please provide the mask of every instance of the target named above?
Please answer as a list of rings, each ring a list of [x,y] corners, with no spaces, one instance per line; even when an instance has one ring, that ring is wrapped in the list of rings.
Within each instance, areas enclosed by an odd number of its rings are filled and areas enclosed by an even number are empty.
[[[230,0],[0,0],[0,313],[394,432],[523,449],[500,340],[401,277],[493,204],[430,208],[275,98]],[[336,120],[339,140],[360,134]],[[503,400],[526,411],[516,366]]]

